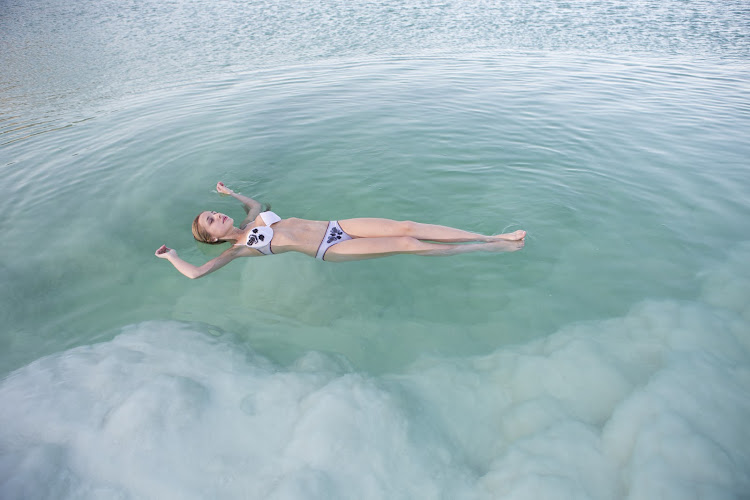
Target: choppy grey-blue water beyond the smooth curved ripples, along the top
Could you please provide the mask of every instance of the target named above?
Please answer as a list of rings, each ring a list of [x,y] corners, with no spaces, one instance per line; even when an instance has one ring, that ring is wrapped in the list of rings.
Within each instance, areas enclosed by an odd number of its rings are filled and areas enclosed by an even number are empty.
[[[338,59],[541,51],[742,60],[748,9],[743,0],[14,0],[0,13],[0,118],[56,130],[144,92]],[[50,118],[58,125],[43,126]],[[16,128],[0,128],[0,143],[29,136]]]

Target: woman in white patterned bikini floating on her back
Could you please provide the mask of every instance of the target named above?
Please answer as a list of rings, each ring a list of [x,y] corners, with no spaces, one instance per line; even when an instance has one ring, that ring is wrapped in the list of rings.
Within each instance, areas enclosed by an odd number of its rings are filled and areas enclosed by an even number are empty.
[[[460,229],[390,219],[345,219],[313,221],[282,219],[273,212],[261,212],[257,201],[237,194],[223,183],[219,193],[240,201],[247,217],[239,227],[218,212],[201,212],[193,221],[193,237],[203,243],[226,241],[232,246],[202,266],[194,266],[162,245],[156,256],[167,259],[188,278],[200,278],[224,267],[238,257],[259,257],[300,252],[330,262],[373,259],[387,255],[455,255],[465,252],[512,252],[523,248],[526,231],[484,236]],[[479,242],[467,245],[459,243]]]

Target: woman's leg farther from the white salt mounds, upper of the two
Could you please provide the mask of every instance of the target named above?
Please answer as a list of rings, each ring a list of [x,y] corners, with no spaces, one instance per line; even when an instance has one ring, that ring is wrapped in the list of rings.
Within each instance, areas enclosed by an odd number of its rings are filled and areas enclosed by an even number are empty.
[[[389,238],[408,236],[424,241],[440,243],[463,243],[468,241],[520,241],[526,231],[485,236],[462,229],[435,224],[422,224],[412,221],[395,221],[391,219],[359,218],[340,220],[339,225],[353,238]]]

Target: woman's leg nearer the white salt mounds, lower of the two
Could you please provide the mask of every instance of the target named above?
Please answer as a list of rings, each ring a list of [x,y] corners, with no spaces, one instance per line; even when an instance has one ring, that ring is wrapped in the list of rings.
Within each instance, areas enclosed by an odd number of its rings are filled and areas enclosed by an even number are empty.
[[[342,226],[343,228],[343,226]],[[456,255],[468,252],[513,252],[523,248],[523,240],[493,241],[467,245],[429,243],[409,236],[386,238],[354,238],[330,247],[324,260],[346,262],[351,260],[376,259],[389,255]]]

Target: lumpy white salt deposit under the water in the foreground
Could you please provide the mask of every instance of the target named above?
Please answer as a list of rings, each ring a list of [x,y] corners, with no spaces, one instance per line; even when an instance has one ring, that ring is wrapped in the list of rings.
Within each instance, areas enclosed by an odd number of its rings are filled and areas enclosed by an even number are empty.
[[[746,497],[748,257],[701,302],[400,375],[132,326],[2,382],[0,497]]]

